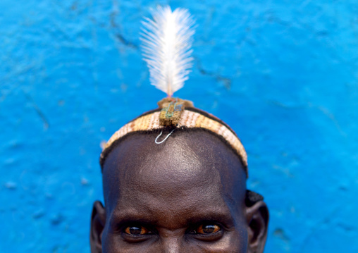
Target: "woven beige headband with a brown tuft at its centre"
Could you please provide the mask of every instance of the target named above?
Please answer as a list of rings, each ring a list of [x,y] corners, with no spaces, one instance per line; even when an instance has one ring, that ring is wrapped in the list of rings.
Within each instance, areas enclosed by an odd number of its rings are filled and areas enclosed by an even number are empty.
[[[144,115],[123,125],[122,128],[112,135],[101,152],[101,166],[103,166],[104,159],[106,159],[106,155],[111,151],[113,144],[125,137],[125,135],[131,132],[154,132],[172,126],[173,128],[202,128],[222,137],[240,157],[245,168],[245,173],[247,173],[247,154],[245,148],[228,125],[209,113],[194,109],[190,101],[163,99],[158,104],[161,111],[144,113]],[[187,108],[185,109],[185,107]]]

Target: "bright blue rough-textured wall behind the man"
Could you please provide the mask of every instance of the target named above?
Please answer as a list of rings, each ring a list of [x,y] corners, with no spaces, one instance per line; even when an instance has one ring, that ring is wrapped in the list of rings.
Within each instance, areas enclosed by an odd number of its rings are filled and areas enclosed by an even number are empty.
[[[0,1],[0,252],[89,252],[100,143],[163,93],[149,7],[197,19],[178,97],[226,121],[271,210],[266,252],[358,252],[358,2]]]

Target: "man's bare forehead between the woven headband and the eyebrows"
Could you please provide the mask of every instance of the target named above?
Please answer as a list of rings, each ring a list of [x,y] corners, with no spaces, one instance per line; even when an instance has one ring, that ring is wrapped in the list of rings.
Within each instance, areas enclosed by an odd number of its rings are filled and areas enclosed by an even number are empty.
[[[168,132],[163,132],[166,136]],[[135,206],[184,210],[198,202],[240,209],[245,172],[237,155],[210,132],[174,131],[162,144],[156,134],[126,137],[104,163],[106,209]],[[121,207],[122,206],[122,207]],[[189,210],[187,210],[189,211]]]

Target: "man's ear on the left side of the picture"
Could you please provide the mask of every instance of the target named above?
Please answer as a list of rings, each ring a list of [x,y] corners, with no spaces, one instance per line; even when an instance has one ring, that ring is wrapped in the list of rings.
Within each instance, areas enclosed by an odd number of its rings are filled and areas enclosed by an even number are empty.
[[[90,245],[92,253],[102,252],[102,233],[106,223],[106,209],[101,202],[93,203],[90,230]]]

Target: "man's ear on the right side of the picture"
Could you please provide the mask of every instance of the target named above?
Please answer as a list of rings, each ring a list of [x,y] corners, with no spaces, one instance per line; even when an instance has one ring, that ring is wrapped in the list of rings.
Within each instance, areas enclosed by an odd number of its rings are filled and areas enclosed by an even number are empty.
[[[259,201],[246,207],[248,251],[249,253],[264,252],[267,228],[269,225],[269,209],[265,202]]]

